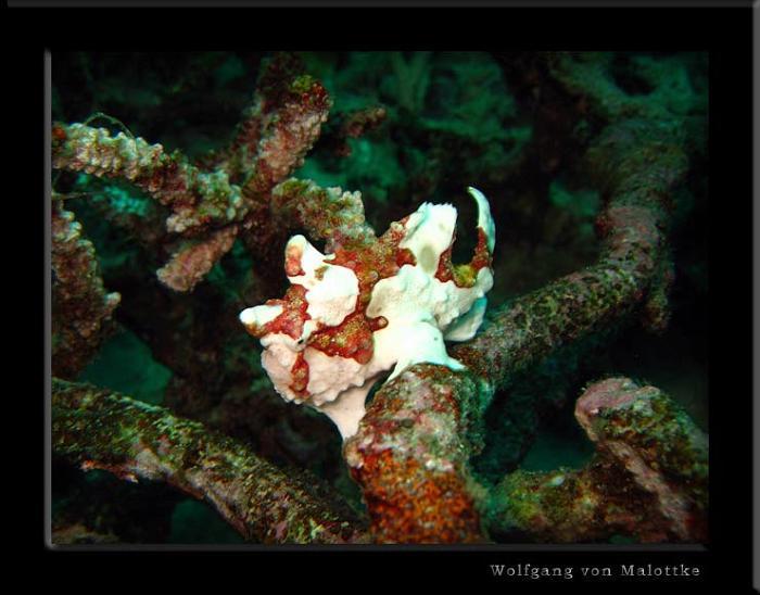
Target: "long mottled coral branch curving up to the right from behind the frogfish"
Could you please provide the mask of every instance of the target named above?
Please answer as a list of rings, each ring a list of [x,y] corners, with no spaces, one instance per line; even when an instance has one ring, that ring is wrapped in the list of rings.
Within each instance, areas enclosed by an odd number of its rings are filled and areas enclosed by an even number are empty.
[[[612,125],[587,161],[611,197],[597,219],[604,238],[598,263],[506,305],[472,342],[453,350],[495,385],[630,313],[663,266],[669,191],[687,165],[672,128],[642,121]]]

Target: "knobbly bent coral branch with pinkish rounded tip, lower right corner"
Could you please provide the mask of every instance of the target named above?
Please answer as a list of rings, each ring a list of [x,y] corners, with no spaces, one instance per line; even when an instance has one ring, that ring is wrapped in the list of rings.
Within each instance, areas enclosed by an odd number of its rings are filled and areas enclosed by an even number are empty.
[[[698,542],[707,537],[708,441],[655,387],[590,387],[575,417],[597,453],[581,470],[516,471],[498,486],[492,530],[544,542]]]

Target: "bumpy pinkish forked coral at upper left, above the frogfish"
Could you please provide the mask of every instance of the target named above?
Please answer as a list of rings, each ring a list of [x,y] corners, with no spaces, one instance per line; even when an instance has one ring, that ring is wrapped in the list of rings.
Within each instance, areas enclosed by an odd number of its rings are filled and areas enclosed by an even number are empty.
[[[169,207],[166,230],[192,240],[180,243],[159,278],[189,291],[239,233],[255,248],[271,239],[261,220],[273,188],[303,163],[329,109],[321,85],[302,73],[294,56],[279,54],[259,78],[230,147],[200,160],[203,166],[124,132],[112,137],[105,128],[56,123],[53,167],[126,180]]]

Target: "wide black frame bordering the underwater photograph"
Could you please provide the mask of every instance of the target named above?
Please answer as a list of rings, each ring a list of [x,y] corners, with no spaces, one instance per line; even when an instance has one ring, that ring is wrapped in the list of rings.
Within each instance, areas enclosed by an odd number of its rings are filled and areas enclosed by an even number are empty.
[[[13,10],[7,20],[5,179],[12,238],[7,291],[30,308],[12,315],[7,343],[28,339],[7,371],[5,472],[13,494],[12,592],[56,593],[545,593],[579,590],[674,593],[751,592],[751,12],[745,9],[439,9],[347,11],[287,9],[206,11]],[[267,552],[65,552],[45,546],[42,429],[45,174],[43,52],[46,49],[618,49],[709,50],[710,114],[710,433],[711,542],[702,552],[632,552],[583,547],[541,552],[404,547],[383,552],[330,548]],[[24,205],[23,210],[17,208]],[[26,208],[29,210],[27,214]],[[22,223],[24,221],[24,223]],[[35,221],[35,223],[27,223]],[[36,252],[35,252],[36,251]],[[37,258],[31,258],[31,253]],[[28,295],[27,295],[28,293]],[[16,307],[15,305],[13,306]],[[7,311],[7,315],[10,314]],[[31,321],[31,324],[30,324]],[[41,339],[41,340],[40,340]],[[18,350],[21,351],[21,350]],[[10,356],[13,357],[13,356]],[[41,374],[40,374],[41,372]],[[39,384],[33,382],[35,379]],[[20,380],[15,382],[15,380]],[[34,388],[31,388],[34,385]],[[23,389],[23,390],[20,390]],[[23,393],[23,394],[20,394]],[[24,405],[17,412],[16,405]],[[24,422],[21,420],[24,416]],[[27,417],[28,416],[28,417]],[[39,498],[39,499],[38,499]],[[491,564],[679,564],[702,568],[692,581],[516,583],[490,577]]]

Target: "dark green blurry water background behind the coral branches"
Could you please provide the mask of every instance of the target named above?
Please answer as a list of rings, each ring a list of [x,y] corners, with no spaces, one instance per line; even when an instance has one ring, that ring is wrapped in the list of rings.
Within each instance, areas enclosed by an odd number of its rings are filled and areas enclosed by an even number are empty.
[[[198,157],[230,141],[251,101],[262,60],[269,55],[54,52],[52,118],[92,118],[93,126],[114,132],[127,128],[151,143]],[[466,188],[479,188],[496,220],[492,305],[595,262],[594,219],[603,197],[584,182],[580,157],[604,123],[592,111],[586,118],[568,119],[568,98],[553,88],[534,54],[300,55],[334,103],[320,140],[295,177],[359,190],[367,218],[379,233],[421,202],[453,203],[459,210],[455,262],[469,259],[474,245],[476,213]],[[573,418],[574,401],[584,385],[610,375],[657,385],[709,430],[707,54],[595,53],[584,60],[604,63],[617,88],[629,96],[661,102],[683,117],[697,139],[689,175],[676,192],[670,233],[672,316],[661,334],[626,320],[515,378],[489,409],[486,446],[473,461],[485,482],[518,466],[552,470],[588,460],[593,447]],[[668,84],[655,89],[653,80]],[[341,137],[342,114],[378,106],[385,113],[379,125],[358,138]],[[188,389],[199,377],[191,378],[187,362],[177,359],[187,355],[163,344],[163,312],[178,316],[182,322],[175,331],[185,333],[188,349],[198,353],[208,343],[215,314],[238,303],[255,305],[244,303],[239,293],[251,256],[236,246],[191,298],[176,294],[155,281],[161,265],[156,255],[101,216],[97,197],[105,187],[123,193],[125,210],[137,214],[149,201],[117,182],[53,173],[53,188],[71,193],[66,208],[96,245],[105,287],[122,294],[114,332],[78,379],[199,419],[283,468],[307,469],[360,509],[338,432],[326,417],[266,390],[268,379],[257,362],[261,347],[242,327],[239,341],[210,353],[210,369],[223,371],[208,374],[202,397]],[[284,287],[281,263],[273,264],[273,275]],[[164,300],[161,304],[145,298],[156,294]],[[194,330],[197,320],[204,320],[203,332]],[[251,375],[232,382],[224,376],[224,362],[214,358],[250,360]],[[84,526],[118,543],[242,543],[211,505],[164,484],[131,484],[103,471],[85,473],[55,457],[52,470],[53,532],[63,541],[72,527]],[[73,541],[87,543],[86,534]],[[499,541],[520,542],[521,536],[503,535]]]

